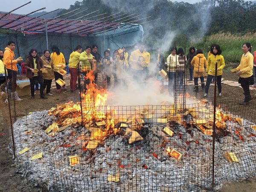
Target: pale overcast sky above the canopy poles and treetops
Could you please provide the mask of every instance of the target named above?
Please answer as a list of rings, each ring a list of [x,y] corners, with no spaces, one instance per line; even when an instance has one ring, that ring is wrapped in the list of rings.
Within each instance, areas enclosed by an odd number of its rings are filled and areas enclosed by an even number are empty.
[[[58,8],[68,9],[70,7],[70,4],[74,4],[76,2],[76,0],[31,0],[31,1],[32,1],[31,3],[16,10],[13,13],[25,15],[37,9],[41,9],[43,7],[46,7],[46,9],[42,11],[47,11],[47,12],[58,9]],[[178,1],[178,2],[183,1],[188,3],[198,2],[198,0],[174,0],[174,1]],[[9,12],[27,2],[29,2],[29,0],[4,0],[3,2],[1,2],[0,11]]]

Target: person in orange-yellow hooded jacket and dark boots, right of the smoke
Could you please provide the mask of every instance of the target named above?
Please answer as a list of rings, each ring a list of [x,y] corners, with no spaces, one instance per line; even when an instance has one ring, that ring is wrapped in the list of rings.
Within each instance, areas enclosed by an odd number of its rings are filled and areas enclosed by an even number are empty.
[[[201,80],[202,89],[204,90],[204,88],[205,88],[205,86],[204,86],[204,75],[205,75],[204,67],[207,66],[207,60],[203,54],[202,49],[197,49],[196,53],[197,53],[197,55],[195,57],[193,57],[193,59],[191,61],[191,66],[194,67],[193,76],[194,76],[195,92],[198,92],[198,90],[199,90],[198,78],[200,78],[200,80]]]

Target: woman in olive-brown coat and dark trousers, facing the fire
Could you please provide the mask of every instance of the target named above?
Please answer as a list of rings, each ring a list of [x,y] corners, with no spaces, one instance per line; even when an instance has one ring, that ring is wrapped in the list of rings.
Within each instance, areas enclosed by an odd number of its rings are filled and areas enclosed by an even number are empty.
[[[50,93],[52,79],[54,79],[54,70],[56,70],[55,65],[52,63],[52,58],[50,57],[49,50],[44,51],[44,55],[41,57],[45,70],[42,71],[42,76],[44,79],[44,89],[46,88],[46,94],[52,96]]]

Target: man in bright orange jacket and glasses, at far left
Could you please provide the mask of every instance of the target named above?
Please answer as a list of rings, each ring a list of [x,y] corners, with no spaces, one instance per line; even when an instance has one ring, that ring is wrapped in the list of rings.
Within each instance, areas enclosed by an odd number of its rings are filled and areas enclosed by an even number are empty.
[[[16,48],[14,41],[9,41],[7,47],[5,48],[5,52],[3,54],[3,64],[6,67],[9,83],[8,89],[11,91],[11,99],[15,99],[15,101],[22,101],[18,97],[18,93],[16,91],[16,81],[17,81],[17,63],[20,63],[23,59],[21,57],[15,59],[14,50]]]

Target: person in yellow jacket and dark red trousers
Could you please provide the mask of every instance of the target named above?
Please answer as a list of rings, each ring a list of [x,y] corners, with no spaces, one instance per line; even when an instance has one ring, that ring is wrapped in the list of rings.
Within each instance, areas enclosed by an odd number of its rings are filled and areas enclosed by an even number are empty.
[[[81,45],[76,46],[76,49],[70,54],[70,59],[68,61],[68,67],[70,71],[71,92],[76,91],[76,81],[77,81],[78,66],[80,62],[81,52],[82,52],[82,46]]]

